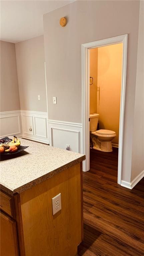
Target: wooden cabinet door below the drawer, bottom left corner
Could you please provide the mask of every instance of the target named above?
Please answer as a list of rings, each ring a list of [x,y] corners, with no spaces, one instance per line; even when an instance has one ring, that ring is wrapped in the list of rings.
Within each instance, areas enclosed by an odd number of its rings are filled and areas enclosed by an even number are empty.
[[[16,222],[0,212],[0,255],[18,256]]]

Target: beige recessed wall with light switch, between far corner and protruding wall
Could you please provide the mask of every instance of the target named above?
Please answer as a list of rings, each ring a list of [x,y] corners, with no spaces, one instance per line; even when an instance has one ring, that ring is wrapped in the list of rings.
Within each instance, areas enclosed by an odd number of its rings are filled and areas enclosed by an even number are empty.
[[[46,112],[43,36],[16,43],[15,46],[21,110]]]

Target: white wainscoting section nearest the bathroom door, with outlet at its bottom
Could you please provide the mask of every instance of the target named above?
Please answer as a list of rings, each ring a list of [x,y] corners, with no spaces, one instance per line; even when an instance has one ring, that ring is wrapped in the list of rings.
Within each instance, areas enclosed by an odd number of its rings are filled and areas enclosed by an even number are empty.
[[[49,143],[51,146],[66,149],[70,145],[70,151],[82,153],[82,124],[48,120]]]

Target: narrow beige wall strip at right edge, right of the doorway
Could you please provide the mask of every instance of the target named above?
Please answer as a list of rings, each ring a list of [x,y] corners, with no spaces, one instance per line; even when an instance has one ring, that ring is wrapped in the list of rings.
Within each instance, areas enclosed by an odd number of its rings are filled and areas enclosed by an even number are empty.
[[[144,1],[140,2],[131,181],[144,170]]]

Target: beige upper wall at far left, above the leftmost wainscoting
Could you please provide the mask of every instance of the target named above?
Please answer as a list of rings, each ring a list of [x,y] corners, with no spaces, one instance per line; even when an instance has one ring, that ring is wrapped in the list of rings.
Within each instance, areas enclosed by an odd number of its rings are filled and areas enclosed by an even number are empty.
[[[0,41],[0,111],[20,109],[15,44]]]

